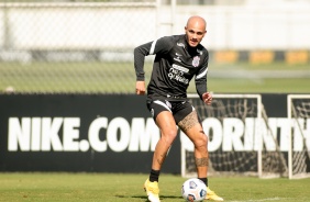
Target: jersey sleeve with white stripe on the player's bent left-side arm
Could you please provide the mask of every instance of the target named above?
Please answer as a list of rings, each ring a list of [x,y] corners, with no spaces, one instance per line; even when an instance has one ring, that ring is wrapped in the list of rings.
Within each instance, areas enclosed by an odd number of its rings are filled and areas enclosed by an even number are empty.
[[[144,80],[144,60],[148,55],[168,53],[173,48],[171,37],[165,36],[134,48],[134,68],[136,80]]]

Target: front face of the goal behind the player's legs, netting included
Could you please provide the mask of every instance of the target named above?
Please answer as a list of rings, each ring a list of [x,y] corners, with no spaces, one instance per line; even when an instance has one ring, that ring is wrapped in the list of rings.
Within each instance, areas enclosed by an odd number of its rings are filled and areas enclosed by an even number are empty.
[[[197,94],[188,98],[209,135],[208,175],[258,175],[258,153],[250,147],[254,147],[251,131],[255,130],[255,119],[262,114],[261,94],[213,94],[211,105],[204,104]],[[180,138],[181,175],[191,177],[196,175],[193,145],[182,132]]]

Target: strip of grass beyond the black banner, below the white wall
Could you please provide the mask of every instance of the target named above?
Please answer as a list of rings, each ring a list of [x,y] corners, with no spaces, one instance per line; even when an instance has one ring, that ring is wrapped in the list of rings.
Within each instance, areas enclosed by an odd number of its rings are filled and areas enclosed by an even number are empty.
[[[146,81],[151,70],[146,63]],[[133,93],[135,72],[132,63],[0,63],[0,91],[8,87],[34,93]],[[215,93],[309,93],[309,64],[209,64],[208,88]],[[196,93],[193,82],[188,92]]]

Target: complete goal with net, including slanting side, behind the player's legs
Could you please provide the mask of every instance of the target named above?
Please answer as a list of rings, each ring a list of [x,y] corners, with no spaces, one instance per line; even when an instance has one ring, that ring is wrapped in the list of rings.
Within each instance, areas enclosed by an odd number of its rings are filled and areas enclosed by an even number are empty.
[[[209,176],[280,176],[284,154],[272,134],[261,94],[213,94],[211,105],[190,94],[209,135]],[[193,145],[181,132],[181,173],[196,176]],[[272,148],[272,149],[270,149]]]

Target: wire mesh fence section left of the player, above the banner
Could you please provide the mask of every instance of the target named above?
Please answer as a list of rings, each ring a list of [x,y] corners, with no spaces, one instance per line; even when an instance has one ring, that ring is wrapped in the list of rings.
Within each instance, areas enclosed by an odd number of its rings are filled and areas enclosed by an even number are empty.
[[[156,37],[156,1],[1,3],[1,90],[133,92],[133,47]]]

